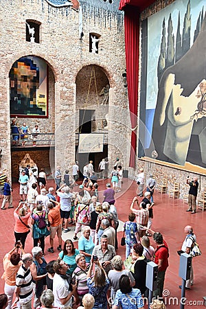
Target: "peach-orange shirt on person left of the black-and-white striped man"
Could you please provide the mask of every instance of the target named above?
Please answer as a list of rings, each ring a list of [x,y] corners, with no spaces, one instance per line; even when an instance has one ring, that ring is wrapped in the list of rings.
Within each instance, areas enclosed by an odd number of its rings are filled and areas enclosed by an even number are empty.
[[[3,258],[3,269],[4,273],[1,277],[1,279],[5,280],[5,283],[8,284],[8,286],[15,286],[16,285],[16,273],[19,271],[19,267],[23,264],[22,261],[19,262],[18,265],[13,265],[10,262],[10,254],[6,254]]]

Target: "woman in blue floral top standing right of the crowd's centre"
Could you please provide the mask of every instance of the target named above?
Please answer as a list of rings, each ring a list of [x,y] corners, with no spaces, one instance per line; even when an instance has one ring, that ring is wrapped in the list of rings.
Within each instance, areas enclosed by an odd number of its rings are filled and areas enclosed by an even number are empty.
[[[128,221],[124,223],[125,243],[126,243],[126,258],[130,255],[130,249],[133,244],[137,244],[137,223],[133,212],[128,215]]]

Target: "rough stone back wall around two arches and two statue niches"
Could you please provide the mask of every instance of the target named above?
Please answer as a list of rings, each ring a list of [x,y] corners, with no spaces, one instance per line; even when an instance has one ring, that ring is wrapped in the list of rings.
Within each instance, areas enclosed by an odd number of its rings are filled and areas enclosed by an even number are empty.
[[[98,1],[93,1],[93,3]],[[82,5],[83,32],[79,38],[79,14],[71,8],[54,8],[42,0],[5,1],[1,3],[1,72],[0,72],[0,108],[1,108],[1,148],[3,157],[1,168],[11,174],[10,154],[10,90],[9,72],[13,63],[22,56],[38,56],[49,66],[49,117],[21,118],[30,126],[38,123],[42,132],[55,132],[55,164],[62,169],[71,165],[75,159],[77,76],[88,65],[99,67],[106,76],[112,89],[110,106],[119,106],[118,118],[128,111],[127,92],[124,88],[122,73],[126,69],[124,54],[123,13],[108,12],[84,2]],[[101,14],[100,14],[101,13]],[[25,41],[25,21],[38,21],[40,25],[40,43]],[[89,52],[89,34],[100,35],[98,54]],[[89,73],[84,76],[84,94],[89,84]],[[98,89],[102,84],[98,85]],[[81,100],[80,100],[81,102]],[[114,115],[113,117],[117,117]],[[112,120],[111,120],[112,121]],[[127,121],[128,124],[128,121]],[[119,124],[113,125],[112,133],[119,136]],[[129,133],[122,130],[127,139]],[[118,143],[117,143],[118,144]],[[119,146],[118,146],[119,148]],[[111,161],[120,150],[108,150]],[[125,157],[128,164],[128,156]]]

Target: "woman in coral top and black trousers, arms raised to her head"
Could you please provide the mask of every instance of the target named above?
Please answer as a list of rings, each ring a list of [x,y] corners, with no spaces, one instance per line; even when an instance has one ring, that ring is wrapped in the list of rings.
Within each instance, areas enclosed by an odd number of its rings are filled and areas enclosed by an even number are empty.
[[[23,207],[22,207],[23,206]],[[25,247],[25,240],[28,233],[30,233],[30,227],[28,225],[28,220],[30,218],[30,208],[24,203],[19,203],[19,206],[14,210],[14,236],[16,242],[21,241],[22,247]]]

